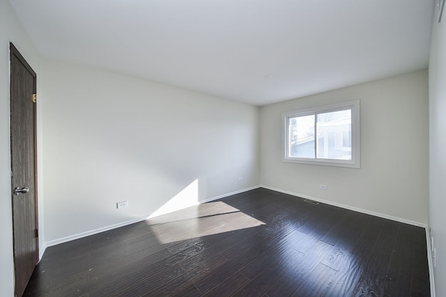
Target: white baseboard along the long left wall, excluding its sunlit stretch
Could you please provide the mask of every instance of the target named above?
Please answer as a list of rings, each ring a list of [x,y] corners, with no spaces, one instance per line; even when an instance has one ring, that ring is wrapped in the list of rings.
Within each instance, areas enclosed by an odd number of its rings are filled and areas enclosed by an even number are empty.
[[[208,198],[206,200],[201,200],[201,201],[199,201],[199,204],[210,202],[210,201],[221,199],[221,198],[225,198],[225,197],[228,197],[228,196],[231,196],[231,195],[235,195],[235,194],[238,194],[238,193],[251,191],[251,190],[254,190],[255,188],[260,188],[260,186],[253,186],[251,188],[244,188],[243,190],[240,190],[240,191],[235,191],[235,192],[232,192],[232,193],[227,193],[227,194],[224,194],[224,195],[219,195],[219,196],[215,196],[215,197],[212,197],[212,198]],[[44,248],[39,252],[39,254],[40,254],[39,257],[40,257],[40,259],[42,259],[43,252],[45,252],[46,248],[49,248],[50,246],[56,246],[56,245],[61,244],[61,243],[65,243],[65,242],[68,242],[68,241],[73,241],[75,239],[81,239],[82,237],[98,234],[100,232],[113,230],[113,229],[116,229],[118,227],[124,227],[126,225],[139,223],[139,222],[142,222],[144,220],[147,220],[148,218],[153,218],[153,216],[144,216],[144,217],[141,217],[141,218],[135,218],[133,220],[126,220],[125,222],[122,222],[122,223],[117,223],[117,224],[114,224],[114,225],[108,225],[108,226],[105,226],[105,227],[100,227],[100,228],[95,229],[95,230],[90,230],[90,231],[86,231],[86,232],[82,232],[82,233],[78,233],[78,234],[62,237],[60,239],[54,239],[52,241],[46,241],[44,243],[44,245],[43,245]]]

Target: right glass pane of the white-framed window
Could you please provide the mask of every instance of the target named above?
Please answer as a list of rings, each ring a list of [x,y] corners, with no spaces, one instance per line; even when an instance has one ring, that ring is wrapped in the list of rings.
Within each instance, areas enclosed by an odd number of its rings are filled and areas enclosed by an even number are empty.
[[[317,117],[317,157],[351,160],[351,109]]]

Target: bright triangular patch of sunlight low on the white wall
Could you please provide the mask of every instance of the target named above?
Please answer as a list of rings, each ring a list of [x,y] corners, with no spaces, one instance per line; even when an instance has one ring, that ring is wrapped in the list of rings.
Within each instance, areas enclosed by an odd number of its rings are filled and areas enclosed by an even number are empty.
[[[193,205],[199,204],[199,188],[198,179],[186,186],[180,193],[176,194],[174,198],[167,201],[157,209],[149,218],[155,216],[161,216],[163,214],[169,214],[173,211],[178,211],[180,209],[185,209],[186,207],[191,207]]]

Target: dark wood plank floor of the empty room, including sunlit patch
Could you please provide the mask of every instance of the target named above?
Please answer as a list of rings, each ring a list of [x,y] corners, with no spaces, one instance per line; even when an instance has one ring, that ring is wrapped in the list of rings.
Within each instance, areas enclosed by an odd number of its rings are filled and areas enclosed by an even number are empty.
[[[24,296],[430,296],[426,237],[258,188],[47,248]]]

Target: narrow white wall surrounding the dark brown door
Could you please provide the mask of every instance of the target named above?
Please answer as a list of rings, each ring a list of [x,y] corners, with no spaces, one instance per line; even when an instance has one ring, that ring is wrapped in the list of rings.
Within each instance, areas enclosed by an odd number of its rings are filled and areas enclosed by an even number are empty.
[[[13,8],[6,0],[0,0],[0,288],[2,296],[14,294],[14,264],[13,264],[13,225],[11,208],[10,179],[10,118],[9,118],[9,42],[13,42],[26,61],[39,75],[40,58],[33,47],[29,36],[17,19]],[[40,83],[38,81],[38,90]],[[41,106],[38,104],[38,114]],[[38,145],[41,145],[42,127],[38,120]],[[39,160],[41,154],[39,150]],[[41,173],[41,168],[38,168]],[[41,174],[40,174],[41,177]],[[38,185],[42,188],[42,180]],[[41,193],[39,189],[39,195]],[[40,195],[41,204],[41,195]],[[39,209],[42,218],[39,227],[43,239],[43,208]],[[40,248],[43,240],[40,240]]]

